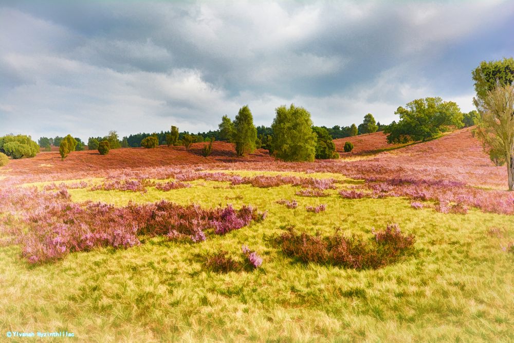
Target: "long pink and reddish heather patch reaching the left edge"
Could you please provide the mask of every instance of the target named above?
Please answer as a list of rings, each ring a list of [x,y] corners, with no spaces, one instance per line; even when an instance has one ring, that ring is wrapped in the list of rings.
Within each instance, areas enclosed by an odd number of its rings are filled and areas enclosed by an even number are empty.
[[[53,193],[35,187],[14,192],[0,189],[0,208],[4,212],[2,221],[8,225],[0,225],[7,236],[2,243],[20,244],[22,255],[31,263],[54,261],[70,252],[96,247],[128,248],[140,244],[140,234],[201,242],[207,238],[204,230],[215,228],[215,224],[231,230],[265,218],[265,213],[250,206],[234,210],[231,206],[202,209],[166,201],[130,203],[121,208],[76,204],[70,201],[66,189]],[[237,225],[234,220],[238,220]]]

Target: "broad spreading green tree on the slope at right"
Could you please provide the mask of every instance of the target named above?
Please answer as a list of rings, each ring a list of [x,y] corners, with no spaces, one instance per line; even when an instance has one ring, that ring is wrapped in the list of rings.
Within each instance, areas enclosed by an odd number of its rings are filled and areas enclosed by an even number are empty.
[[[438,97],[416,99],[406,107],[398,107],[395,114],[400,116],[400,120],[397,123],[393,121],[384,130],[388,143],[425,141],[447,131],[448,127],[461,128],[463,125],[461,110],[453,101],[443,101]]]

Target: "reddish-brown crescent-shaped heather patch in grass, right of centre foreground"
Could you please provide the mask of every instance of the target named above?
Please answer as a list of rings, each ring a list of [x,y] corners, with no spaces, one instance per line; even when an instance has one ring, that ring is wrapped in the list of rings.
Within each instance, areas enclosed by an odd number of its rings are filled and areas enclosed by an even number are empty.
[[[374,239],[364,241],[357,236],[314,236],[296,233],[292,228],[278,239],[282,251],[304,263],[332,264],[345,268],[381,268],[397,262],[413,246],[414,236],[405,236],[397,224],[374,231]]]

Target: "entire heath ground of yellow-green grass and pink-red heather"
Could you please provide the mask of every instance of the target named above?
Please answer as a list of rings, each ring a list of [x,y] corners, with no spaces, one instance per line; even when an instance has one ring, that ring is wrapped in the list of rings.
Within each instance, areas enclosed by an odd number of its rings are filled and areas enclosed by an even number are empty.
[[[0,327],[113,342],[514,340],[505,168],[470,129],[383,137],[348,154],[336,141],[342,158],[314,163],[223,142],[207,158],[193,145],[14,160],[0,168]]]

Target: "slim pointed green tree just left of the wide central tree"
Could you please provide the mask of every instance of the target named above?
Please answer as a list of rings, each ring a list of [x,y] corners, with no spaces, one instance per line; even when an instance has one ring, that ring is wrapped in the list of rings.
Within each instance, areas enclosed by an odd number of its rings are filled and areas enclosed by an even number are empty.
[[[237,156],[252,153],[255,150],[257,129],[253,125],[253,117],[248,105],[241,107],[234,120],[233,141]]]

